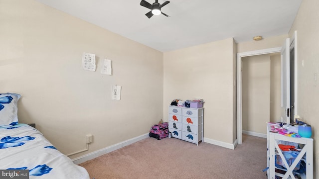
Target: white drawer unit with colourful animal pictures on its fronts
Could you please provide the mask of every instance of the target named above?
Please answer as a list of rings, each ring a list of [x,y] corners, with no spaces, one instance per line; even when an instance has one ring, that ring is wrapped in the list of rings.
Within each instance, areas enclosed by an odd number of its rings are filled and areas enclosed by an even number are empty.
[[[168,106],[168,130],[171,136],[197,144],[203,142],[204,108]]]

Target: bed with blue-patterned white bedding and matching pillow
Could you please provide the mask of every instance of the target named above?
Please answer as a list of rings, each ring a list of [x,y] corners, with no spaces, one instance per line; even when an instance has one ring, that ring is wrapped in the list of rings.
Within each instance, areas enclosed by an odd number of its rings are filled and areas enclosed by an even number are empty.
[[[0,94],[0,170],[27,172],[29,179],[90,179],[37,129],[18,123],[16,93]]]

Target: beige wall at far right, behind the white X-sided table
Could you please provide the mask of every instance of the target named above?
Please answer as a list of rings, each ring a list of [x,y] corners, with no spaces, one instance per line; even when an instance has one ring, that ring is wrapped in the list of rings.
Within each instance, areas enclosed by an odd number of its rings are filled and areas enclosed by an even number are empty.
[[[298,114],[310,124],[314,138],[314,179],[319,179],[319,0],[303,0],[294,24],[297,30]],[[317,81],[315,80],[317,75]]]

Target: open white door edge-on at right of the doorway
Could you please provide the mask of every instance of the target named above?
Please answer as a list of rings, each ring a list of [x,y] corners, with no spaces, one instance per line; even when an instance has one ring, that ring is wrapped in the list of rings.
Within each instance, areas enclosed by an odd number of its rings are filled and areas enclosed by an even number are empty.
[[[290,123],[290,39],[281,50],[281,121]]]

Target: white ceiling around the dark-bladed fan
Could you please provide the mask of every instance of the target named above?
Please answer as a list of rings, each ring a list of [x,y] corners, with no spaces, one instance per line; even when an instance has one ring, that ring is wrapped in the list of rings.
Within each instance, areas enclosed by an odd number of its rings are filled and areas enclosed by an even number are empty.
[[[287,34],[302,0],[170,0],[161,9],[170,17],[150,19],[141,0],[37,1],[167,52],[231,37],[240,43]]]

